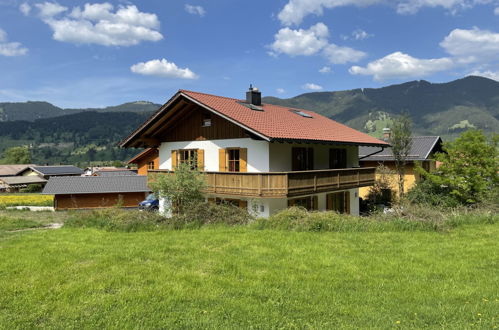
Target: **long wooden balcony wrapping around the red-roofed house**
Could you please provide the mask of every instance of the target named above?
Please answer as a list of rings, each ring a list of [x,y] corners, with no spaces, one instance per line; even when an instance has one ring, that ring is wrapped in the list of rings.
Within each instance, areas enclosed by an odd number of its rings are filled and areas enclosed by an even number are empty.
[[[296,172],[205,172],[206,193],[226,196],[282,198],[371,186],[374,167]],[[150,170],[165,173],[167,170]]]

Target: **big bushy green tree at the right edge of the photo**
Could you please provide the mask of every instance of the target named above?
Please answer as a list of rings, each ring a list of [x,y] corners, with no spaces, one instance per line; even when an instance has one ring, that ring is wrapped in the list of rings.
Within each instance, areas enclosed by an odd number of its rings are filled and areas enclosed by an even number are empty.
[[[433,184],[446,188],[461,203],[479,203],[498,189],[498,142],[497,134],[487,139],[482,131],[466,131],[456,140],[444,143],[445,153],[435,155],[442,162],[437,172],[421,168],[418,171]]]

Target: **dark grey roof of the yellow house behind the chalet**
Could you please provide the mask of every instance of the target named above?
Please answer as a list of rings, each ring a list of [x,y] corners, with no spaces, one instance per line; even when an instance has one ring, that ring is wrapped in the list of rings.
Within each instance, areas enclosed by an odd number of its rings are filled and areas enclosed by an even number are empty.
[[[392,148],[386,148],[382,152],[376,153],[366,158],[362,158],[379,150],[381,150],[381,148],[360,147],[359,161],[395,161],[392,153]],[[442,139],[440,138],[440,136],[413,136],[412,146],[409,155],[407,156],[407,160],[427,160],[433,152],[441,150]]]

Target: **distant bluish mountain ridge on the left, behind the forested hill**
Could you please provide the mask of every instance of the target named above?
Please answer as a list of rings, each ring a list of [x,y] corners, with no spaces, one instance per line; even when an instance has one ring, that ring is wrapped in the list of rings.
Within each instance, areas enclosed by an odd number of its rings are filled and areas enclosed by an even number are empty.
[[[61,109],[48,102],[28,101],[17,103],[0,103],[0,122],[24,120],[33,122],[37,119],[54,118],[72,115],[79,112],[152,112],[160,107],[148,101],[124,103],[106,108]]]

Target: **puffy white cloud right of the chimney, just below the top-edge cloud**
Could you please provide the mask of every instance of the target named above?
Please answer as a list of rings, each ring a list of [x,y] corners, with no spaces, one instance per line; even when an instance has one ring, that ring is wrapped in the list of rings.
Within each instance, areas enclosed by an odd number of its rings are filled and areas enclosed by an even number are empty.
[[[310,56],[322,54],[332,64],[357,62],[366,54],[350,47],[341,47],[329,43],[329,29],[324,23],[317,23],[309,29],[280,29],[270,45],[271,55]]]

